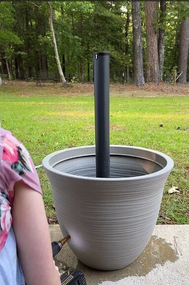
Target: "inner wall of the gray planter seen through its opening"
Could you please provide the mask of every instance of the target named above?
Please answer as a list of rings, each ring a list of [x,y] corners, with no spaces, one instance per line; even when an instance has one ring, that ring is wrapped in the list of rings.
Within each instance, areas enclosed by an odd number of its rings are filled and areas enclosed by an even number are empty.
[[[66,158],[51,166],[63,173],[96,177],[95,155]],[[136,177],[151,174],[164,168],[160,163],[129,155],[110,154],[110,178]]]

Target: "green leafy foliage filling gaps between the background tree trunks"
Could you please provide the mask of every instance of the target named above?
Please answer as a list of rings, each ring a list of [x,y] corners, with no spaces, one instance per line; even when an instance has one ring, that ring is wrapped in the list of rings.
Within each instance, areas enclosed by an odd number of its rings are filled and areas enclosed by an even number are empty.
[[[146,66],[145,2],[141,1],[143,64]],[[92,74],[93,53],[109,51],[111,74],[122,74],[126,66],[133,69],[133,34],[131,1],[52,1],[53,25],[61,65],[67,77],[87,80]],[[127,12],[130,16],[128,36],[125,36]],[[179,28],[189,15],[187,1],[167,1],[162,14],[157,8],[154,25],[164,28],[164,75],[178,64]],[[128,53],[126,54],[126,46]],[[13,69],[19,57],[19,68],[29,77],[38,72],[57,70],[45,1],[0,2],[1,57],[7,58]],[[64,62],[65,61],[65,62]],[[88,73],[88,74],[87,74]],[[89,74],[90,73],[90,74]],[[88,76],[87,76],[88,75]]]

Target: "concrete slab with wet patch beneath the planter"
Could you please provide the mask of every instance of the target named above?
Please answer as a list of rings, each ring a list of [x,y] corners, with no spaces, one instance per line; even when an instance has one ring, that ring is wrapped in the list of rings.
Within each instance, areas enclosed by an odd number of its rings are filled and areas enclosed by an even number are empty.
[[[51,240],[62,238],[49,225]],[[158,225],[139,258],[116,271],[99,271],[82,264],[67,244],[56,255],[60,271],[78,268],[87,285],[189,285],[189,225]],[[61,273],[60,272],[60,273]]]

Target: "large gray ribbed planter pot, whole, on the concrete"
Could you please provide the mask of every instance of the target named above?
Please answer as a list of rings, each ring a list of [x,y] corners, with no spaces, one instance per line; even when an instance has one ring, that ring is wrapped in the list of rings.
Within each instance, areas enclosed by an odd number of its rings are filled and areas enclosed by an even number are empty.
[[[132,263],[155,227],[167,155],[138,147],[110,147],[110,177],[95,177],[95,147],[61,150],[43,160],[56,214],[69,246],[86,265],[114,270]]]

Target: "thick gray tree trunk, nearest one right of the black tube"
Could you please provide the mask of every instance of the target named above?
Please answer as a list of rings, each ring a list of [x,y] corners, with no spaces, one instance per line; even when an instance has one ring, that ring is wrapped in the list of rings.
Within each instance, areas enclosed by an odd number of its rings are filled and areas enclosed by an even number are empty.
[[[143,57],[142,57],[142,31],[141,31],[141,7],[140,2],[132,0],[133,17],[133,81],[137,86],[143,85]]]

